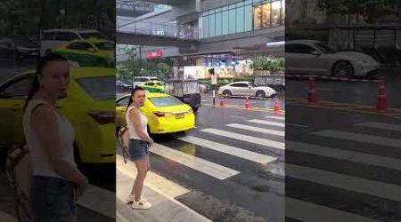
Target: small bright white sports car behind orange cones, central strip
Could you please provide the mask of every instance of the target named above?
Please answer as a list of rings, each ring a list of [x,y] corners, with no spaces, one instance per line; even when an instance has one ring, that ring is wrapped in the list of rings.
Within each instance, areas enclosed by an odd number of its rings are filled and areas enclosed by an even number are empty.
[[[248,81],[241,81],[220,86],[218,89],[218,94],[226,97],[254,96],[258,98],[265,98],[277,96],[277,91],[274,91],[274,89],[268,86],[257,86]]]

